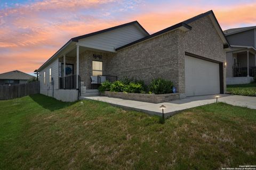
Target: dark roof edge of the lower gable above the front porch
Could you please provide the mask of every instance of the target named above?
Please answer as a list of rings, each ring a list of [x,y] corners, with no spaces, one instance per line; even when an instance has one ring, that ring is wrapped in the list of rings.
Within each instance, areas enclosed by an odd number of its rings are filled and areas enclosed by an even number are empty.
[[[100,30],[100,31],[96,31],[96,32],[92,32],[92,33],[87,33],[87,34],[82,35],[82,36],[74,37],[74,38],[71,38],[56,53],[54,53],[43,65],[41,65],[41,67],[39,67],[39,69],[35,70],[34,72],[38,72],[40,69],[42,69],[43,66],[45,66],[48,62],[50,62],[53,57],[55,57],[63,48],[65,48],[66,46],[68,46],[72,42],[78,42],[79,39],[95,36],[95,35],[98,35],[98,34],[103,33],[103,32],[107,32],[107,31],[118,29],[118,28],[126,27],[127,25],[132,25],[132,24],[137,24],[139,26],[139,28],[143,32],[145,32],[146,35],[149,35],[149,33],[141,26],[141,24],[138,21],[132,21],[132,22],[128,22],[128,23],[125,23],[125,24],[117,25],[115,27],[111,27],[111,28]]]

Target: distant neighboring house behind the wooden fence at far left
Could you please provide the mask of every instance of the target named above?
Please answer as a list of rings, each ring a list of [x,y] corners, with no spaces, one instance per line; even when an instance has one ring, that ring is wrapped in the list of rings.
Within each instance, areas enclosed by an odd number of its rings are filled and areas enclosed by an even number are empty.
[[[14,70],[0,74],[0,85],[23,84],[27,83],[28,80],[32,78],[35,77],[19,70]]]

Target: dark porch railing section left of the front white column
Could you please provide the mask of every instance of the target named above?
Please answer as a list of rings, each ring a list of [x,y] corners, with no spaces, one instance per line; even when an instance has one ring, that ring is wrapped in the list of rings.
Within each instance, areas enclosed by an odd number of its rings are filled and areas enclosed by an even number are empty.
[[[65,77],[65,88],[64,77],[59,78],[59,89],[76,89],[76,75],[69,75]]]

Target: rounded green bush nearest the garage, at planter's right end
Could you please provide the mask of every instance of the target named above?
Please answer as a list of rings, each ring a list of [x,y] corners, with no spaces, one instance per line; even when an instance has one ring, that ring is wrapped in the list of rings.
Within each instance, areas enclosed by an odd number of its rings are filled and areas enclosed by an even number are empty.
[[[153,79],[148,86],[149,93],[154,94],[170,94],[172,93],[173,83],[169,80],[164,80],[162,78]]]

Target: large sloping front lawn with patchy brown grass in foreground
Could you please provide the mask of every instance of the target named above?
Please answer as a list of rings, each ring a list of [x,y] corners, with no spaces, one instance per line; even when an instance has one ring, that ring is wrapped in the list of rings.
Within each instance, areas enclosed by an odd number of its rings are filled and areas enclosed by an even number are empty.
[[[219,169],[256,164],[256,110],[157,116],[43,95],[0,101],[0,169]]]

